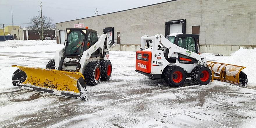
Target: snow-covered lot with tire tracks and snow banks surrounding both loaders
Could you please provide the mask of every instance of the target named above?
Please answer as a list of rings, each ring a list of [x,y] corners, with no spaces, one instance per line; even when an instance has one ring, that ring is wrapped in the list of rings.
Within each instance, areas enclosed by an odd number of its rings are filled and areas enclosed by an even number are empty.
[[[14,43],[14,42],[11,42]],[[190,79],[179,88],[135,72],[135,52],[111,51],[111,79],[88,86],[88,101],[12,85],[11,65],[45,68],[63,45],[7,47],[0,44],[0,127],[256,127],[256,49],[208,60],[246,66],[248,87],[220,81],[206,86]],[[4,47],[1,47],[4,46]]]

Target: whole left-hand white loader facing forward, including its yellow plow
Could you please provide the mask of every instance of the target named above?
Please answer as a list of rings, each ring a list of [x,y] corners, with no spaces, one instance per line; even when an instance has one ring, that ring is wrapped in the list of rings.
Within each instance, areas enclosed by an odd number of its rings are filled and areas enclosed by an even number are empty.
[[[64,48],[57,50],[46,69],[13,65],[13,85],[31,90],[87,100],[86,84],[110,79],[109,47],[113,27],[97,35],[92,29],[66,29]],[[109,44],[109,42],[111,42]]]

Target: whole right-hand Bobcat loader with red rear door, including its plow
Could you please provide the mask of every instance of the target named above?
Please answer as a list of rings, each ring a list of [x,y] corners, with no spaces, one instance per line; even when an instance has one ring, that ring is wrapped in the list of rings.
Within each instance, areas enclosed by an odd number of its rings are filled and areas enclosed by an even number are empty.
[[[245,67],[207,62],[199,53],[198,40],[198,34],[142,36],[141,50],[136,52],[136,72],[150,79],[164,79],[172,87],[182,86],[186,77],[198,85],[207,85],[214,79],[247,84],[247,77],[241,72]],[[216,66],[220,67],[215,70]]]

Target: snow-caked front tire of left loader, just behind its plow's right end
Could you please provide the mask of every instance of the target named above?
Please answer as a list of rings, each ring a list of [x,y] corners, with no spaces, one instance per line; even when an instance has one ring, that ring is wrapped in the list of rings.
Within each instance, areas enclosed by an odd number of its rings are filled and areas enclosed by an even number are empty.
[[[97,68],[99,69],[99,74],[98,74],[99,78],[95,79],[95,70]],[[101,67],[100,67],[99,62],[94,61],[94,62],[87,63],[87,65],[85,67],[85,70],[84,70],[84,73],[83,73],[86,84],[89,85],[89,86],[97,85],[100,81],[101,73],[102,72],[101,72]]]

